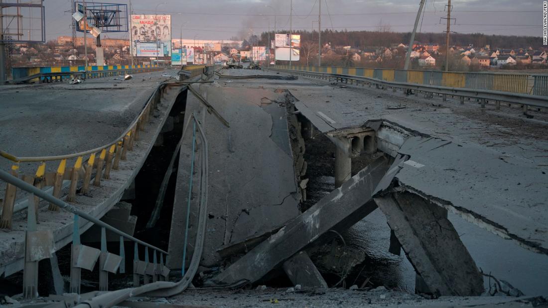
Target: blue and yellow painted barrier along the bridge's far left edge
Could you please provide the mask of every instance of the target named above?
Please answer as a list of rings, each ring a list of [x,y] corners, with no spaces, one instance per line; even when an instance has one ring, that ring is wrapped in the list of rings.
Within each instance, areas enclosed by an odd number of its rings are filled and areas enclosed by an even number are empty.
[[[26,83],[33,79],[39,79],[41,82],[62,82],[63,77],[67,78],[102,78],[113,77],[118,75],[124,75],[128,73],[143,73],[152,71],[163,71],[163,67],[142,67],[142,68],[123,68],[123,69],[111,69],[108,71],[73,71],[73,72],[49,72],[49,73],[37,73],[29,75],[23,78],[9,80],[9,83]],[[66,79],[66,78],[65,78]]]

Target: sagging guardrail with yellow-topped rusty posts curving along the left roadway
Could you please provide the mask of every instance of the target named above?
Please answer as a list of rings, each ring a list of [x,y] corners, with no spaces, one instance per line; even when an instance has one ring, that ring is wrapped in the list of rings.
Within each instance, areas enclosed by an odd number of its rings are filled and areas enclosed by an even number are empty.
[[[140,132],[150,123],[151,115],[161,100],[161,91],[165,85],[157,87],[150,95],[147,103],[139,115],[132,121],[128,128],[115,140],[103,146],[86,150],[83,152],[54,155],[54,156],[16,156],[0,150],[0,156],[12,161],[14,164],[11,173],[15,177],[21,177],[21,162],[36,162],[38,167],[33,174],[22,175],[23,181],[34,185],[39,189],[48,189],[56,198],[61,197],[62,190],[68,186],[67,202],[76,201],[76,192],[79,180],[82,180],[80,193],[86,194],[90,185],[99,187],[102,179],[109,179],[112,170],[118,170],[120,161],[127,160],[128,151],[132,151],[134,143],[139,140]],[[85,160],[87,159],[87,160]],[[68,161],[74,161],[72,168],[67,168]],[[46,164],[50,161],[58,161],[56,172],[46,172]],[[92,182],[92,176],[94,179]],[[18,202],[15,207],[17,188],[8,184],[5,189],[5,197],[0,217],[0,229],[12,229],[13,214],[28,207],[28,202]],[[33,202],[35,205],[36,220],[38,219],[39,200]],[[50,204],[50,211],[59,211],[59,207]]]

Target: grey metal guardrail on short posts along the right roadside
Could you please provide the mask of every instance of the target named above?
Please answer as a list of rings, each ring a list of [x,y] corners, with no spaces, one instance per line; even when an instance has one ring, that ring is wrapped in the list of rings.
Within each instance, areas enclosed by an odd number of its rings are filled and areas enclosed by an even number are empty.
[[[548,97],[538,96],[538,95],[519,94],[519,93],[493,91],[493,90],[452,88],[452,87],[441,86],[441,85],[422,85],[422,84],[414,84],[414,83],[389,82],[389,81],[380,80],[376,78],[357,77],[353,75],[344,75],[344,74],[316,73],[316,72],[295,71],[292,69],[280,69],[280,68],[269,68],[269,69],[273,69],[275,71],[281,71],[281,72],[289,71],[289,72],[304,75],[307,77],[316,77],[316,78],[322,78],[322,79],[335,78],[337,80],[341,80],[341,82],[343,80],[345,82],[348,82],[349,80],[351,80],[351,81],[356,81],[357,83],[361,82],[362,85],[363,84],[380,85],[380,86],[383,86],[384,89],[392,88],[394,91],[398,88],[406,89],[406,90],[415,90],[415,95],[417,93],[416,91],[422,91],[427,94],[436,93],[436,94],[443,95],[444,100],[447,99],[447,95],[460,96],[461,104],[464,104],[465,97],[477,98],[478,100],[482,100],[481,101],[482,107],[485,107],[485,104],[488,101],[494,101],[495,107],[497,109],[500,109],[501,102],[514,103],[514,104],[519,104],[523,106],[524,114],[527,114],[528,106],[538,107],[538,108],[548,108]]]

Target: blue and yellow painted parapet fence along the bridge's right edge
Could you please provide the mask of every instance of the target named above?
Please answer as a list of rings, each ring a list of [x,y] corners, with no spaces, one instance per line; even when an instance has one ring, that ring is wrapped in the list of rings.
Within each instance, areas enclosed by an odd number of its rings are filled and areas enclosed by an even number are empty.
[[[521,94],[535,92],[538,87],[538,76],[529,74],[504,73],[470,73],[470,72],[441,72],[417,71],[391,68],[354,68],[354,67],[316,67],[316,66],[288,66],[276,65],[275,68],[292,69],[294,71],[330,73],[368,77],[388,82],[407,82],[423,85],[447,86],[450,88],[469,88],[478,90],[505,91]],[[533,81],[534,83],[529,83]],[[529,89],[529,85],[531,88]],[[546,88],[545,88],[546,89]],[[536,95],[548,95],[548,91],[536,91]],[[543,93],[543,94],[541,94]]]

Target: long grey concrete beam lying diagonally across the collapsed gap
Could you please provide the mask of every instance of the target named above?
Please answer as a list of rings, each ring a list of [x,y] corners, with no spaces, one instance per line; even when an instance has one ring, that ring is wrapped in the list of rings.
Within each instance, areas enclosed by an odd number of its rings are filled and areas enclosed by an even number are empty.
[[[391,184],[401,162],[395,161],[395,167],[389,170],[389,159],[381,156],[213,280],[233,283],[245,279],[253,283],[329,230],[355,224],[375,210],[376,205],[372,199],[375,191]]]

